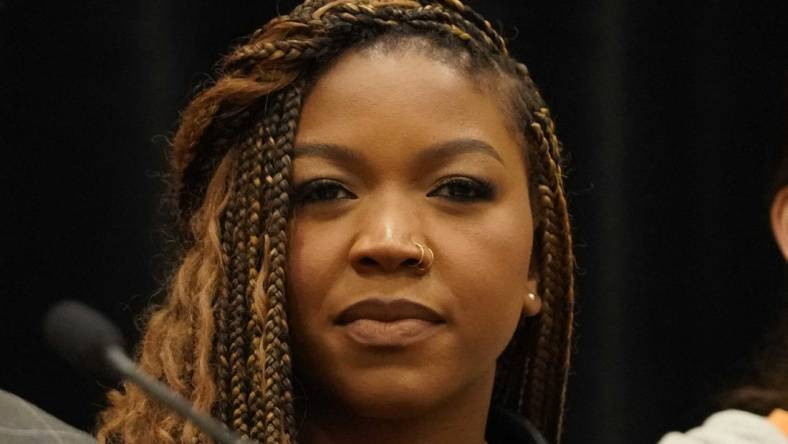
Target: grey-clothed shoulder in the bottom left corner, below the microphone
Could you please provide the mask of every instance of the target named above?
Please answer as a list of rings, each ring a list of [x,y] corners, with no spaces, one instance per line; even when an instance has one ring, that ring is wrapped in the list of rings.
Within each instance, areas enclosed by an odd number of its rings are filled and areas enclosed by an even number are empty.
[[[96,441],[24,399],[0,390],[0,442],[95,444]]]

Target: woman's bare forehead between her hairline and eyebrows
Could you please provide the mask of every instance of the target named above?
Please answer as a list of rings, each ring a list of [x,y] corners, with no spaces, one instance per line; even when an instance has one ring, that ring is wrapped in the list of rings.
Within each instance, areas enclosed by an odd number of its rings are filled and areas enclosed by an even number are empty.
[[[398,149],[479,139],[522,165],[509,116],[486,90],[423,51],[349,51],[314,83],[296,142]]]

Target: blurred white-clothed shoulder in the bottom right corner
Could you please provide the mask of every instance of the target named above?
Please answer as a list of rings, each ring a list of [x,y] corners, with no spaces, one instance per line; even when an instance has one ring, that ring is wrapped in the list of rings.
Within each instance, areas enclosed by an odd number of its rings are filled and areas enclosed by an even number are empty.
[[[788,438],[763,416],[724,410],[686,433],[668,433],[658,444],[788,444]]]

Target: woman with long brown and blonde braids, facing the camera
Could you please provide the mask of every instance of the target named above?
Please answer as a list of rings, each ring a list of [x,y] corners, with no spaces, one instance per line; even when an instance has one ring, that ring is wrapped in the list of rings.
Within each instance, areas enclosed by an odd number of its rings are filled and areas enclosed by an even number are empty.
[[[477,13],[306,1],[224,59],[173,149],[187,247],[146,371],[266,443],[558,442],[560,146]],[[109,399],[100,442],[207,441],[133,386]]]

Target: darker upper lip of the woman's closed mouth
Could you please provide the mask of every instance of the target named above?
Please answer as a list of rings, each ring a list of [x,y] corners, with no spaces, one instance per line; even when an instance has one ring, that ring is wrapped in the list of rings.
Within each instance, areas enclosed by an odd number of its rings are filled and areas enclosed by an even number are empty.
[[[342,310],[335,323],[344,325],[359,319],[380,322],[394,322],[401,319],[422,319],[434,323],[445,322],[435,310],[417,302],[407,299],[386,301],[370,298],[356,302]]]

